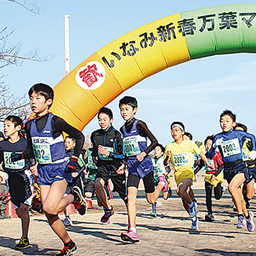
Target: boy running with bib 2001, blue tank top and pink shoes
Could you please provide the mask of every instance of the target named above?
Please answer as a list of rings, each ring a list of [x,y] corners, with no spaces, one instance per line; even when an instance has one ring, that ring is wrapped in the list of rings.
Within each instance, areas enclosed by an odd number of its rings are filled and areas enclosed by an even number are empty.
[[[148,155],[157,145],[157,140],[149,131],[145,122],[135,119],[138,103],[133,97],[126,96],[119,101],[119,108],[125,125],[120,128],[127,161],[128,180],[128,232],[122,232],[121,239],[132,243],[139,242],[136,231],[136,198],[140,179],[143,180],[146,198],[150,204],[155,203],[158,196],[168,189],[165,176],[159,176],[159,184],[154,186],[154,167]],[[151,144],[147,147],[147,138]],[[124,169],[124,165],[122,166]]]

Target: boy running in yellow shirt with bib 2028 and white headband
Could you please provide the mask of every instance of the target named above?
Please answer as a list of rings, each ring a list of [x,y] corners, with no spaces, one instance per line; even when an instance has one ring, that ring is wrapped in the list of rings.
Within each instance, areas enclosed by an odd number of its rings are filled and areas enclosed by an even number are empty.
[[[206,156],[201,152],[194,141],[183,138],[184,130],[185,127],[182,122],[175,121],[171,124],[171,132],[174,141],[168,144],[165,149],[164,164],[167,165],[171,157],[174,167],[175,182],[177,183],[177,194],[189,205],[189,217],[192,219],[191,228],[197,230],[197,203],[191,200],[191,196],[187,192],[188,188],[191,190],[191,185],[194,181],[194,153],[198,154],[208,167],[213,168],[213,165],[208,162]]]

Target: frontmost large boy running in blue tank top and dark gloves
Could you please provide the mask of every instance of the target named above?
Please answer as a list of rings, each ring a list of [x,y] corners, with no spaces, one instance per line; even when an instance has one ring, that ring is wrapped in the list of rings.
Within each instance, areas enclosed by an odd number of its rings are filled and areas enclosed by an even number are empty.
[[[30,157],[36,158],[37,181],[40,185],[43,210],[51,228],[64,243],[64,248],[57,255],[71,255],[77,251],[77,247],[67,234],[58,213],[70,203],[75,205],[80,214],[86,211],[86,203],[79,188],[73,188],[69,195],[64,196],[67,183],[72,182],[70,173],[78,168],[77,158],[84,143],[84,136],[62,118],[48,111],[54,97],[53,89],[49,85],[35,84],[28,94],[31,109],[36,115],[25,126],[28,140],[26,150],[21,154],[12,153],[11,159],[16,162]],[[74,153],[68,163],[65,161],[63,132],[76,139]]]

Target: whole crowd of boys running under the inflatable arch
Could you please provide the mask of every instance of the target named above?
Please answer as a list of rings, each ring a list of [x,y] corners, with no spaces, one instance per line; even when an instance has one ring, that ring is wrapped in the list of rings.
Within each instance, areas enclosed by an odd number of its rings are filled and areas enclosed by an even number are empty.
[[[126,96],[119,101],[124,125],[116,130],[112,111],[102,107],[98,112],[100,129],[92,132],[91,147],[85,149],[82,132],[49,112],[54,98],[50,86],[35,84],[28,94],[34,118],[24,125],[20,117],[8,116],[4,121],[6,138],[0,141],[0,163],[8,174],[11,202],[22,223],[22,237],[15,249],[30,247],[29,210],[35,198],[35,179],[40,188],[40,199],[37,196],[37,204],[33,204],[32,209],[45,214],[49,225],[62,240],[64,247],[57,255],[72,255],[77,246],[65,228],[72,225],[69,204],[83,215],[87,208],[92,208],[91,200],[96,193],[98,204],[104,209],[100,221],[108,224],[114,214],[109,202],[108,181],[111,180],[113,192],[119,194],[127,208],[127,231],[121,233],[121,239],[139,242],[136,230],[139,182],[142,179],[146,199],[152,204],[150,215],[156,217],[156,201],[161,192],[164,200],[172,195],[171,167],[174,168],[177,195],[191,219],[191,229],[198,230],[199,222],[191,186],[196,173],[204,168],[208,212],[205,220],[214,221],[212,190],[214,198],[220,200],[225,179],[238,214],[237,228],[254,230],[254,214],[247,208],[255,192],[255,136],[247,133],[245,125],[236,123],[236,115],[230,110],[220,115],[222,132],[208,135],[200,148],[180,121],[172,122],[170,130],[174,141],[164,147],[146,123],[135,118],[137,100]],[[68,135],[65,140],[63,133]],[[150,152],[154,152],[154,157],[149,155]],[[61,211],[65,213],[63,221],[58,217]]]

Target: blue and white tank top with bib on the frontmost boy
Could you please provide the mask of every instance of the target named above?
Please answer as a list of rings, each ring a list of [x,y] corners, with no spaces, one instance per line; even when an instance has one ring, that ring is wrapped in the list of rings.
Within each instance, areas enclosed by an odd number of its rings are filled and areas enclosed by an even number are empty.
[[[36,120],[31,121],[30,135],[34,156],[39,164],[55,164],[65,161],[66,150],[64,138],[61,134],[57,138],[53,137],[52,119],[53,114],[49,113],[45,127],[38,131]]]

